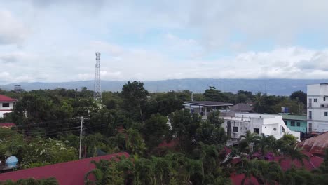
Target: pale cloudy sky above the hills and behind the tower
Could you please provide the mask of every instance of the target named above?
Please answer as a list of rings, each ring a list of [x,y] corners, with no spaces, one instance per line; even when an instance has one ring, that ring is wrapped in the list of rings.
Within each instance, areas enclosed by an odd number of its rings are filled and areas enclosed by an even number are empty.
[[[0,0],[0,85],[328,78],[327,0]]]

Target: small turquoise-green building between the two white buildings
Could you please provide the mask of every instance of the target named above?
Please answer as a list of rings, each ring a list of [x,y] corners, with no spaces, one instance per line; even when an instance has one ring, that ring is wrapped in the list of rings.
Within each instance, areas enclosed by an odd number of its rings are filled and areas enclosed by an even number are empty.
[[[287,128],[295,132],[301,132],[301,138],[306,133],[308,128],[306,116],[283,114],[282,119],[287,125]]]

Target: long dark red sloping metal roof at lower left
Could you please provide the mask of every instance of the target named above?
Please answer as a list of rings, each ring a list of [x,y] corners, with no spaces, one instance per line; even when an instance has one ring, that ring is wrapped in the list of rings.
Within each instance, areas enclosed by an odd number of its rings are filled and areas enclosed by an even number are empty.
[[[81,160],[74,160],[67,163],[57,163],[55,165],[46,165],[43,167],[34,167],[26,170],[18,170],[15,172],[7,172],[0,174],[0,181],[7,179],[44,179],[55,177],[61,185],[76,185],[84,184],[84,175],[93,170],[94,165],[90,163],[92,160],[99,161],[100,159],[110,160],[116,156],[129,157],[128,153],[114,153],[107,156],[100,156],[95,158],[85,158]]]

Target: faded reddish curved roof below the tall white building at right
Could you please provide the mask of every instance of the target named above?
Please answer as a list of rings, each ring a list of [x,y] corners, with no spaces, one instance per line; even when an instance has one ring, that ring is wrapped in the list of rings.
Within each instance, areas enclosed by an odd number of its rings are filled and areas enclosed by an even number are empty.
[[[328,132],[324,132],[315,137],[310,137],[309,139],[300,142],[298,146],[304,151],[324,156],[324,150],[328,148]]]

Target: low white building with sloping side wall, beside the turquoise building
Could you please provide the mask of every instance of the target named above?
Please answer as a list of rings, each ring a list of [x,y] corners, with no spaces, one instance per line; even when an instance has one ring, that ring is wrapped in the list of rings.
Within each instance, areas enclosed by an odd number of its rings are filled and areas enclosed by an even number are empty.
[[[247,130],[250,130],[252,133],[273,135],[276,139],[280,139],[285,133],[300,139],[300,132],[289,130],[281,115],[235,113],[235,116],[224,116],[224,124],[222,126],[228,135],[231,136],[228,145],[237,144],[240,141],[240,136],[245,135]]]

